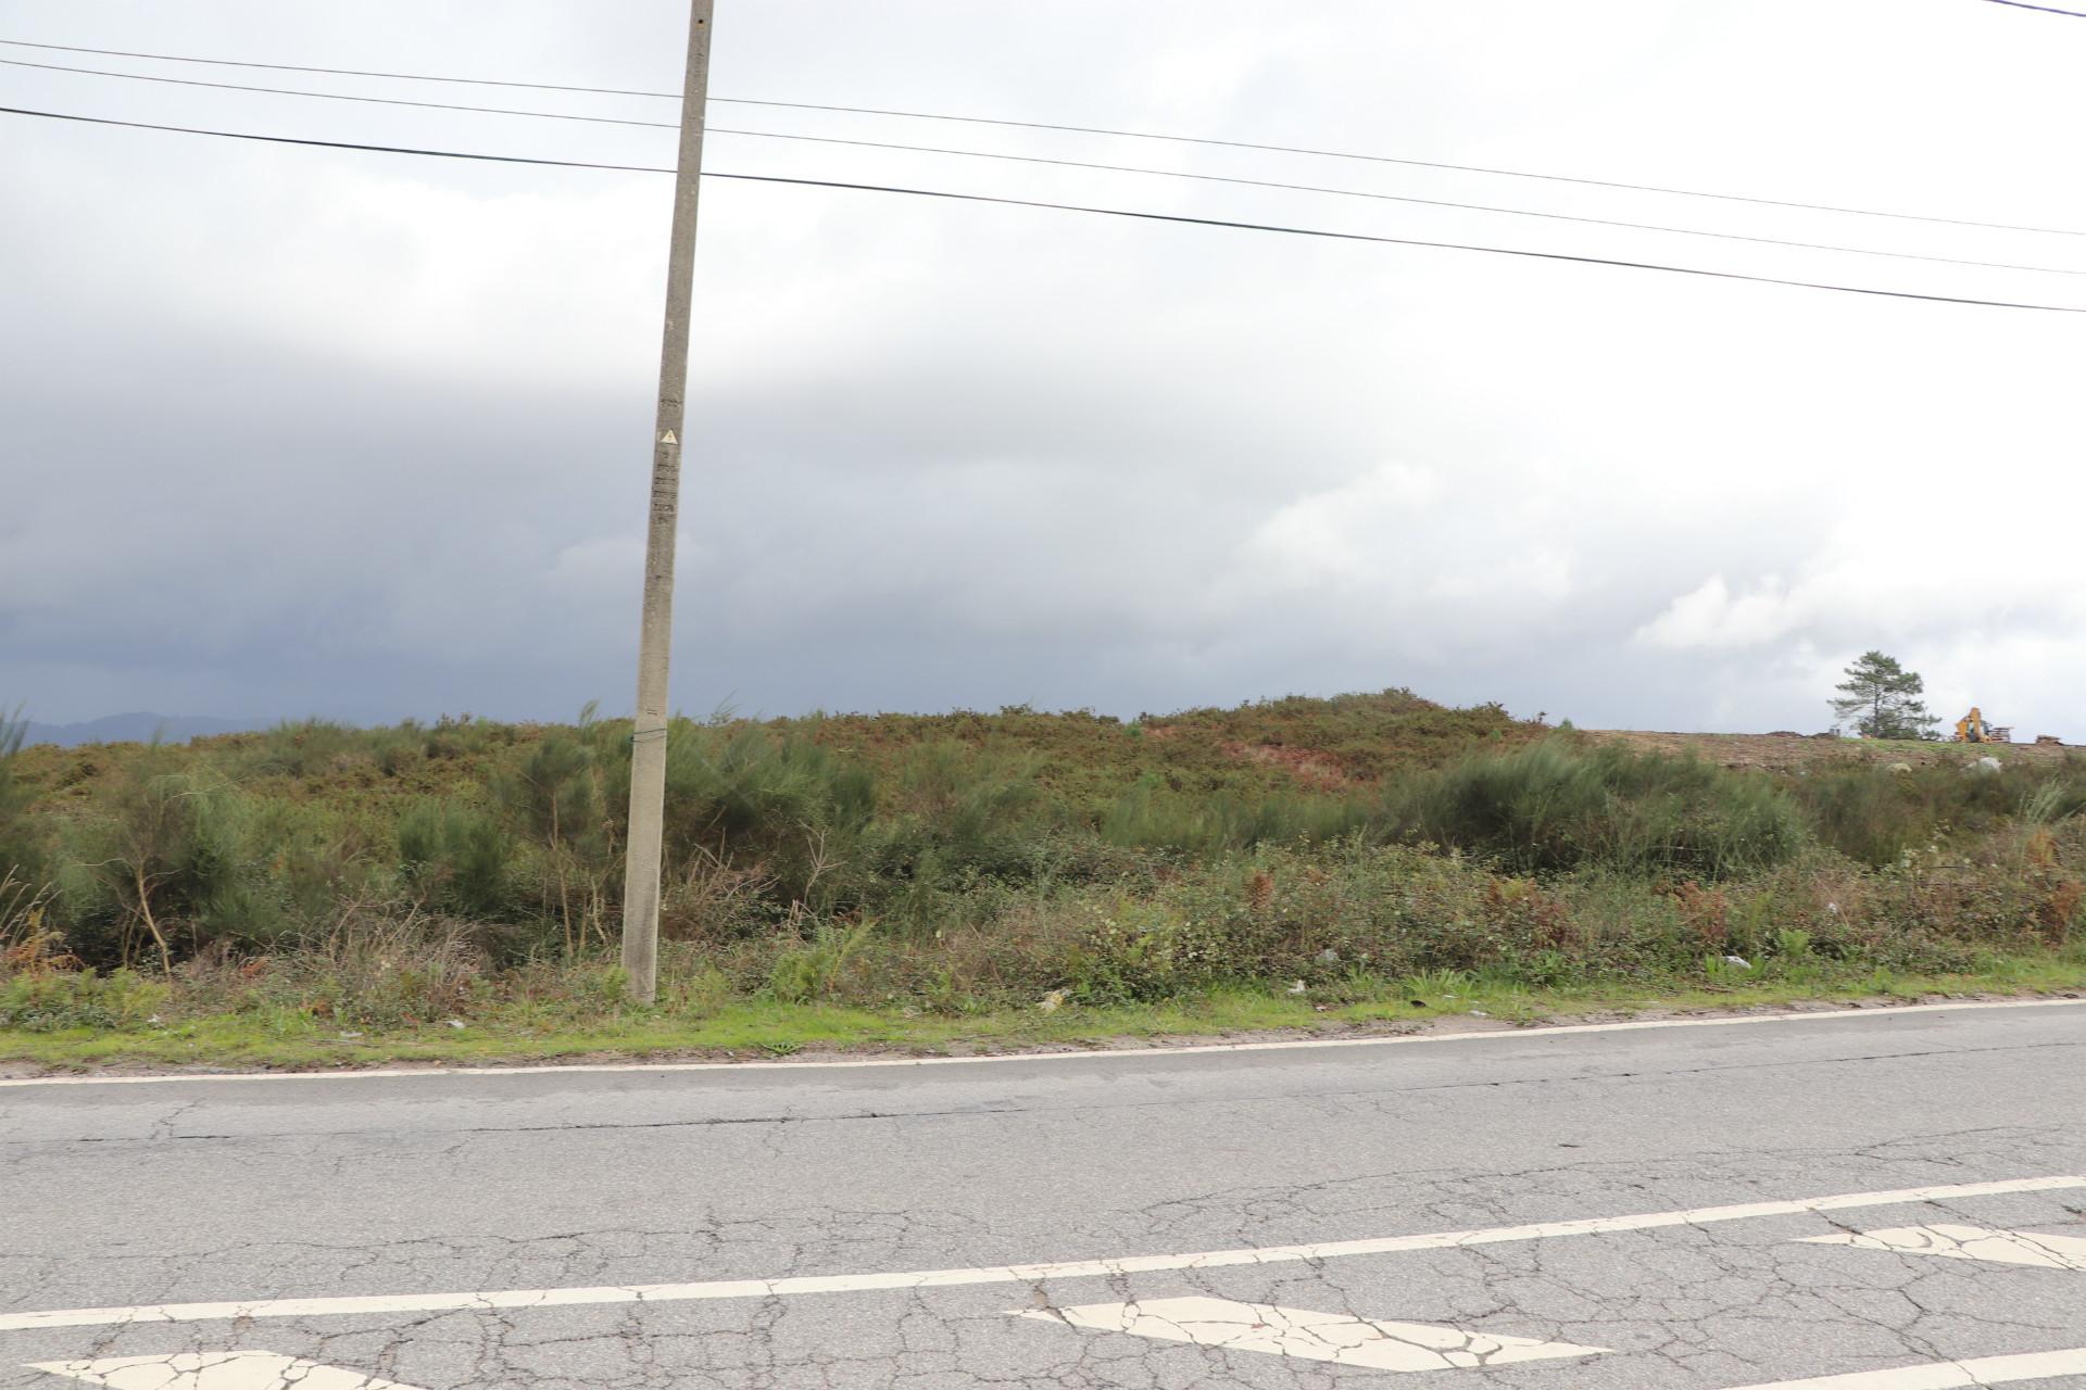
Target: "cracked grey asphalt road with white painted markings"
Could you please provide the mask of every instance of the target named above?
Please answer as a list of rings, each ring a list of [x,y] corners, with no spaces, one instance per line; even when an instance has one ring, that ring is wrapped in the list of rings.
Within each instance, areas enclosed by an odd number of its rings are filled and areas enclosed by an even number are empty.
[[[2086,1002],[0,1084],[8,1388],[1408,1373],[2086,1390]]]

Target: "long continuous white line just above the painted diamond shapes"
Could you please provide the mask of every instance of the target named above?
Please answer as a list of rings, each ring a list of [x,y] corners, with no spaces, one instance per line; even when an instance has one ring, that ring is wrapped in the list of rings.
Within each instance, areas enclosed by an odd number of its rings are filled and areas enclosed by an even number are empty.
[[[1398,1255],[1404,1250],[1454,1250],[1458,1246],[1550,1240],[1556,1236],[1604,1236],[1650,1232],[1673,1225],[1715,1225],[1756,1217],[1790,1217],[1861,1207],[1907,1202],[1950,1202],[1965,1196],[2011,1192],[2065,1192],[2086,1188],[2086,1177],[2013,1177],[2005,1182],[1963,1182],[1944,1188],[1900,1188],[1894,1192],[1842,1192],[1779,1202],[1736,1207],[1694,1207],[1629,1217],[1587,1217],[1581,1221],[1537,1221],[1494,1225],[1427,1236],[1377,1236],[1302,1246],[1260,1246],[1250,1250],[1204,1250],[1197,1255],[1129,1255],[1118,1259],[1060,1261],[1043,1265],[987,1265],[978,1269],[914,1269],[893,1273],[818,1273],[778,1280],[711,1280],[703,1284],[622,1284],[597,1288],[509,1288],[490,1292],[369,1294],[336,1298],[252,1298],[246,1302],[148,1302],[111,1309],[52,1309],[48,1313],[0,1313],[0,1332],[35,1327],[115,1327],[121,1323],[204,1323],[250,1317],[342,1317],[353,1313],[480,1313],[492,1309],[551,1309],[599,1302],[697,1302],[713,1298],[786,1298],[795,1294],[862,1294],[876,1290],[955,1288],[968,1284],[1039,1284],[1043,1280],[1097,1280],[1168,1269],[1222,1269],[1233,1265],[1297,1265],[1356,1255]]]

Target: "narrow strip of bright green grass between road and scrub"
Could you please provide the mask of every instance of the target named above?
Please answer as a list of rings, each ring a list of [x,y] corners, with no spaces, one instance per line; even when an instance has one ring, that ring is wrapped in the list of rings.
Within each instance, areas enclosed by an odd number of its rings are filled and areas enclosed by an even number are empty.
[[[905,1009],[851,1009],[730,1000],[701,1017],[686,1009],[609,1004],[592,1013],[494,1007],[469,1021],[344,1029],[294,1011],[227,1011],[159,1023],[50,1032],[0,1029],[8,1071],[94,1069],[317,1069],[386,1063],[544,1063],[582,1059],[761,1061],[797,1054],[955,1057],[1022,1048],[1106,1046],[1135,1040],[1239,1036],[1362,1036],[1427,1027],[1500,1027],[1606,1017],[1671,1017],[1802,1004],[1921,1002],[1936,998],[2086,996],[2086,959],[1992,957],[1969,973],[1900,975],[1888,969],[1763,971],[1719,986],[1527,988],[1487,975],[1444,971],[1383,982],[1348,1002],[1308,992],[1216,990],[1154,1004],[999,1009],[935,1017]],[[457,1025],[461,1023],[461,1027]]]

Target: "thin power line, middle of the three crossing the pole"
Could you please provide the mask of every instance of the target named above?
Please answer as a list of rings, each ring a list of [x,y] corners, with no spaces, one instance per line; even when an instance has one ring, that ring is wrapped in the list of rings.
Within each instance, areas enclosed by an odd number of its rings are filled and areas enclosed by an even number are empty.
[[[657,127],[657,129],[678,129],[678,123],[674,123],[674,121],[622,121],[622,119],[615,119],[615,117],[582,117],[582,115],[569,115],[569,113],[563,113],[563,110],[524,110],[524,108],[513,108],[513,106],[469,106],[469,104],[455,104],[455,102],[413,102],[413,100],[403,100],[403,98],[392,98],[392,96],[342,96],[338,92],[311,92],[311,90],[302,90],[302,88],[259,88],[259,85],[248,85],[248,83],[238,83],[238,81],[200,81],[200,79],[192,79],[192,77],[159,77],[159,75],[150,75],[150,73],[113,73],[108,69],[65,67],[65,65],[58,65],[58,63],[29,63],[29,60],[23,60],[23,58],[0,58],[0,65],[31,67],[31,69],[42,69],[42,71],[52,71],[52,73],[81,73],[81,75],[88,75],[88,77],[123,77],[123,79],[131,79],[131,81],[163,81],[163,83],[175,83],[175,85],[184,85],[184,88],[211,88],[211,90],[223,90],[223,92],[263,92],[263,94],[269,94],[269,96],[311,96],[311,98],[336,100],[336,102],[375,102],[375,104],[382,104],[382,106],[419,106],[419,108],[432,108],[432,110],[467,110],[467,113],[499,115],[499,117],[540,117],[540,119],[549,119],[549,121],[595,121],[595,123],[607,123],[607,125],[649,125],[649,127]],[[1752,242],[1756,246],[1790,246],[1790,248],[1798,248],[1798,250],[1827,250],[1827,252],[1844,252],[1844,254],[1854,254],[1854,256],[1888,256],[1892,260],[1927,260],[1927,263],[1934,263],[1934,265],[1967,265],[1967,267],[1988,269],[1988,271],[2034,271],[2034,273],[2042,273],[2042,275],[2086,275],[2086,271],[2073,271],[2073,269],[2053,267],[2053,265],[2023,265],[2023,263],[2017,263],[2017,260],[1975,260],[1975,258],[1967,258],[1967,256],[1932,256],[1932,254],[1909,252],[1909,250],[1879,250],[1879,248],[1869,248],[1869,246],[1838,246],[1838,244],[1832,244],[1832,242],[1798,242],[1798,240],[1792,240],[1792,238],[1750,235],[1750,233],[1740,233],[1740,231],[1715,231],[1715,229],[1706,229],[1706,227],[1671,227],[1671,225],[1663,225],[1663,223],[1638,223],[1638,221],[1627,221],[1627,219],[1617,219],[1617,217],[1585,217],[1585,215],[1575,215],[1575,213],[1548,213],[1548,210],[1539,210],[1539,208],[1512,208],[1512,206],[1500,206],[1500,204],[1487,204],[1487,202],[1458,202],[1458,200],[1452,200],[1452,198],[1416,198],[1416,196],[1410,196],[1410,194],[1379,194],[1379,192],[1358,190],[1358,188],[1331,188],[1331,185],[1325,185],[1325,183],[1287,183],[1287,181],[1279,181],[1279,179],[1245,179],[1245,177],[1222,175],[1222,173],[1189,173],[1189,171],[1183,171],[1183,169],[1151,169],[1151,167],[1143,167],[1143,165],[1103,165],[1103,163],[1078,160],[1078,158],[1051,158],[1051,156],[1043,156],[1043,154],[1008,154],[1008,152],[1001,152],[1001,150],[966,150],[966,148],[955,148],[955,146],[924,146],[924,144],[903,144],[903,142],[893,142],[893,140],[847,140],[847,138],[839,138],[839,135],[801,135],[801,133],[786,133],[786,131],[755,131],[755,129],[734,129],[734,127],[724,127],[724,125],[711,125],[709,133],[713,133],[713,135],[745,135],[745,138],[755,138],[755,140],[793,140],[793,142],[811,142],[811,144],[834,144],[834,146],[853,146],[853,148],[864,148],[864,150],[903,150],[903,152],[912,152],[912,154],[951,154],[951,156],[962,156],[962,158],[991,158],[991,160],[1005,160],[1005,163],[1018,163],[1018,165],[1051,165],[1051,167],[1058,167],[1058,169],[1097,169],[1097,171],[1103,171],[1103,173],[1135,173],[1135,175],[1149,175],[1149,177],[1162,177],[1162,179],[1193,179],[1197,183],[1235,183],[1235,185],[1243,185],[1243,188],[1270,188],[1270,190],[1281,190],[1281,192],[1329,194],[1329,196],[1335,196],[1335,198],[1371,198],[1371,200],[1377,200],[1377,202],[1404,202],[1404,204],[1429,206],[1429,208],[1456,208],[1456,210],[1464,210],[1464,213],[1498,213],[1498,215],[1504,215],[1504,217],[1539,217],[1539,219],[1546,219],[1546,221],[1583,223],[1583,225],[1592,225],[1592,227],[1623,227],[1623,229],[1631,229],[1631,231],[1663,231],[1663,233],[1671,233],[1671,235],[1702,235],[1702,238],[1717,238],[1717,240],[1725,240],[1725,242]]]

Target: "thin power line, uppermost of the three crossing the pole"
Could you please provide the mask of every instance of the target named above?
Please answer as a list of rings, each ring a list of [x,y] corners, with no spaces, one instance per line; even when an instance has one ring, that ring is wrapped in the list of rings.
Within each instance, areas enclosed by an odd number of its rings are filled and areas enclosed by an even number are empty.
[[[2000,0],[2000,2],[2015,4],[2019,0]],[[2032,6],[2032,8],[2042,8],[2042,6]],[[2057,10],[2057,13],[2067,13],[2067,10]],[[582,88],[582,85],[565,85],[565,83],[553,83],[553,81],[499,81],[499,79],[492,79],[492,77],[442,77],[442,75],[434,75],[434,73],[390,73],[390,71],[375,71],[375,69],[300,67],[300,65],[292,65],[292,63],[242,63],[242,60],[236,60],[236,58],[194,58],[194,56],[163,54],[163,52],[131,52],[131,50],[121,50],[121,48],[79,48],[79,46],[71,46],[71,44],[31,44],[27,40],[0,40],[0,44],[10,44],[10,46],[17,46],[17,48],[44,48],[44,50],[52,50],[52,52],[86,52],[86,54],[100,54],[100,56],[108,56],[108,58],[150,58],[154,63],[209,63],[209,65],[215,65],[215,67],[257,67],[257,69],[267,69],[267,71],[277,71],[277,73],[323,73],[323,75],[332,75],[332,77],[386,77],[386,79],[396,79],[396,81],[453,81],[453,83],[480,85],[480,88],[526,88],[526,90],[532,90],[532,92],[584,92],[584,94],[599,94],[599,96],[647,96],[647,98],[678,100],[678,94],[674,94],[674,92],[645,92],[645,90],[634,90],[634,88]],[[1208,135],[1168,135],[1168,133],[1158,133],[1158,131],[1114,129],[1114,127],[1106,127],[1106,125],[1062,125],[1062,123],[1051,123],[1051,121],[1010,121],[1010,119],[999,119],[999,117],[962,117],[962,115],[949,115],[949,113],[937,113],[937,110],[903,110],[903,108],[893,108],[893,106],[841,106],[841,104],[830,104],[830,102],[778,102],[778,100],[759,100],[759,98],[749,98],[749,96],[711,96],[709,100],[718,102],[718,104],[726,104],[726,106],[772,106],[772,108],[778,108],[778,110],[826,110],[826,113],[859,115],[859,117],[901,117],[901,119],[907,119],[907,121],[953,121],[953,123],[962,123],[962,125],[995,125],[995,127],[1003,127],[1003,129],[1037,129],[1037,131],[1060,131],[1060,133],[1074,133],[1074,135],[1112,135],[1112,138],[1120,138],[1120,140],[1158,140],[1158,142],[1166,142],[1166,144],[1214,146],[1214,148],[1227,148],[1227,150],[1260,150],[1260,152],[1266,152],[1266,154],[1308,154],[1308,156],[1316,156],[1316,158],[1345,158],[1345,160],[1360,160],[1360,163],[1373,163],[1373,165],[1402,165],[1402,167],[1408,167],[1408,169],[1441,169],[1441,171],[1452,171],[1452,173],[1498,175],[1498,177],[1506,177],[1506,179],[1539,179],[1539,181],[1546,181],[1546,183],[1579,183],[1579,185],[1587,185],[1587,188],[1615,188],[1615,190],[1638,192],[1638,194],[1669,194],[1669,196],[1675,196],[1675,198],[1713,198],[1713,200],[1719,200],[1719,202],[1748,202],[1748,204],[1754,204],[1754,206],[1798,208],[1798,210],[1806,210],[1806,213],[1844,213],[1844,215],[1850,215],[1850,217],[1886,217],[1886,219],[1894,219],[1894,221],[1940,223],[1940,225],[1946,225],[1946,227],[1984,227],[1988,231],[2036,231],[2036,233],[2044,233],[2044,235],[2086,235],[2086,231],[2071,229],[2071,227],[2036,227],[2036,225],[2028,225],[2028,223],[1994,223],[1994,221],[1978,221],[1978,219],[1969,219],[1969,217],[1932,217],[1932,215],[1921,215],[1921,213],[1892,213],[1892,210],[1884,210],[1884,208],[1850,208],[1850,206],[1832,204],[1832,202],[1798,202],[1798,200],[1792,200],[1792,198],[1754,198],[1754,196],[1748,196],[1748,194],[1717,194],[1717,192],[1706,192],[1706,190],[1698,190],[1698,188],[1673,188],[1673,185],[1665,185],[1665,183],[1627,183],[1627,181],[1621,181],[1621,179],[1587,179],[1587,177],[1567,175],[1567,173],[1535,173],[1535,171],[1529,171],[1529,169],[1498,169],[1498,167],[1487,167],[1487,165],[1452,165],[1452,163],[1446,163],[1446,160],[1402,158],[1402,156],[1393,156],[1393,154],[1360,154],[1360,152],[1354,152],[1354,150],[1323,150],[1323,148],[1312,148],[1312,146],[1260,144],[1260,142],[1252,142],[1252,140],[1214,140],[1214,138],[1208,138]]]

